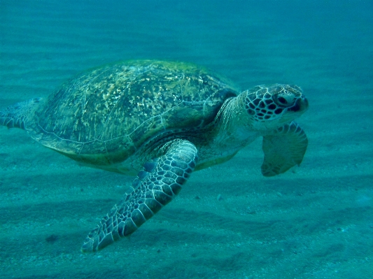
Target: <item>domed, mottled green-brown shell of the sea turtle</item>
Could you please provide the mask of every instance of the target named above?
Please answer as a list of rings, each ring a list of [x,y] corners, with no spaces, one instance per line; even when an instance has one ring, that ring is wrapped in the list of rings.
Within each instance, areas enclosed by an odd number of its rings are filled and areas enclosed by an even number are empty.
[[[237,96],[231,83],[194,64],[121,62],[62,85],[28,131],[73,159],[113,164],[163,131],[206,126],[230,96]]]

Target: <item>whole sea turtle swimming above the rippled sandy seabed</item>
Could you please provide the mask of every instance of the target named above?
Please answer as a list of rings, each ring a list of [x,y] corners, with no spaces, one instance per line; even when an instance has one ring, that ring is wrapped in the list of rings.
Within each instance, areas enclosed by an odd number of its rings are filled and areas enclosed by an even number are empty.
[[[132,191],[88,234],[87,252],[132,234],[193,170],[231,159],[259,136],[264,176],[300,164],[307,136],[293,120],[307,108],[296,85],[239,93],[194,64],[141,60],[87,71],[45,99],[6,108],[0,124],[87,166],[136,176]]]

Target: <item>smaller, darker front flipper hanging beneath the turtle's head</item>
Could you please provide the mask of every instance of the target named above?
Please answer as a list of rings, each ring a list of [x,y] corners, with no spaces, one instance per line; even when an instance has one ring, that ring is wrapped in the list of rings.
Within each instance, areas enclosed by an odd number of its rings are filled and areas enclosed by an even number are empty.
[[[263,176],[276,176],[288,171],[292,166],[302,162],[307,150],[308,140],[302,128],[290,122],[263,136],[265,159],[262,164]]]

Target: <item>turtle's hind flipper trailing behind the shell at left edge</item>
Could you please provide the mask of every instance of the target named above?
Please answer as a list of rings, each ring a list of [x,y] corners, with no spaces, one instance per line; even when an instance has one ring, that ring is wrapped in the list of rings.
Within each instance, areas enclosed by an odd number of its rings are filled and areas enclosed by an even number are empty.
[[[41,98],[35,98],[8,106],[5,110],[0,111],[0,125],[25,130],[30,112],[36,108],[40,101]]]

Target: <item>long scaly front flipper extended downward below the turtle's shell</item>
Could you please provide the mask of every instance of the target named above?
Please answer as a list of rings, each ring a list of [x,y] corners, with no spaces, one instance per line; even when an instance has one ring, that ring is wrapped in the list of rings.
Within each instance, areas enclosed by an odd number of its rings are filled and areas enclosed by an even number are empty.
[[[197,164],[197,148],[189,141],[174,140],[160,150],[160,157],[143,165],[125,194],[111,212],[93,229],[83,243],[83,252],[97,251],[129,236],[180,192]]]

